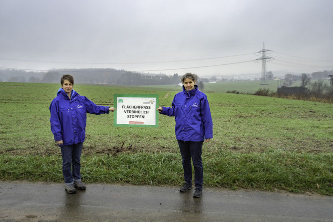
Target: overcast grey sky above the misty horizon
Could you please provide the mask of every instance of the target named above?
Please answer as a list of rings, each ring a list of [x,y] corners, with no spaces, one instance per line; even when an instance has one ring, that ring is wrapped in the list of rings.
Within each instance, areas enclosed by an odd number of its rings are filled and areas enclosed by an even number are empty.
[[[0,0],[0,67],[261,73],[264,41],[267,71],[333,69],[333,0]]]

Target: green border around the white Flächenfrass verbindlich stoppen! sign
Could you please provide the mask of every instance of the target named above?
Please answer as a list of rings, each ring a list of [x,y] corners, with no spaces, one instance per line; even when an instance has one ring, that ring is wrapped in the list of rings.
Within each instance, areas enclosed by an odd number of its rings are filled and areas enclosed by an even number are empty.
[[[158,94],[114,94],[113,95],[113,107],[115,109],[117,109],[117,97],[148,97],[148,98],[155,98],[156,99],[156,106],[155,106],[155,125],[143,125],[143,124],[117,124],[117,110],[115,110],[113,112],[113,126],[127,126],[127,127],[158,127],[158,110],[156,110],[158,108]]]

